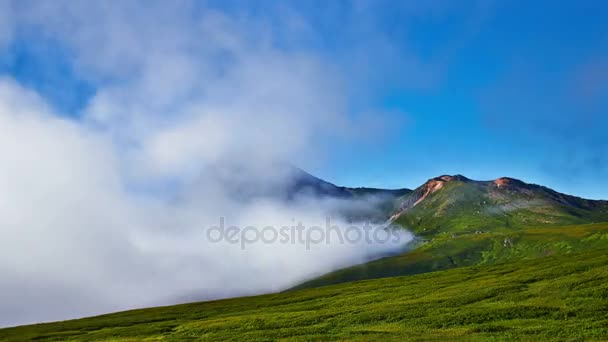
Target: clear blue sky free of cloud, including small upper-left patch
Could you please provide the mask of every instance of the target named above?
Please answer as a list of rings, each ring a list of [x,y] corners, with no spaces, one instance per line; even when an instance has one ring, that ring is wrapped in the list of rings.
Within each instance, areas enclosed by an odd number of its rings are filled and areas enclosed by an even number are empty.
[[[511,176],[608,199],[605,2],[208,6],[262,22],[275,49],[330,66],[345,84],[348,115],[381,127],[369,138],[359,127],[360,139],[330,139],[323,162],[294,160],[322,178],[415,187],[440,174]],[[287,16],[297,18],[289,21],[295,29],[285,29]],[[43,30],[15,31],[0,55],[0,74],[39,92],[62,115],[78,120],[99,88],[116,81],[88,72],[67,44]]]

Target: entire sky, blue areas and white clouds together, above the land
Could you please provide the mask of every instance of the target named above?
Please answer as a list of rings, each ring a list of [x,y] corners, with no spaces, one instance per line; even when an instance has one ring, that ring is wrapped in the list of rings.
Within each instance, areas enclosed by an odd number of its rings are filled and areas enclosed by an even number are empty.
[[[403,230],[210,241],[222,217],[323,226],[382,200],[235,197],[286,184],[285,162],[339,185],[511,176],[608,199],[607,17],[600,1],[0,0],[0,326],[279,291],[407,248]]]

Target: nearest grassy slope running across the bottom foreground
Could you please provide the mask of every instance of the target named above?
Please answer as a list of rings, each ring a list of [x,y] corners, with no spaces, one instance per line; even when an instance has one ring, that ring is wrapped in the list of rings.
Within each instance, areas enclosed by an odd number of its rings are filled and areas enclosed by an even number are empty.
[[[9,328],[0,340],[607,340],[607,251]]]

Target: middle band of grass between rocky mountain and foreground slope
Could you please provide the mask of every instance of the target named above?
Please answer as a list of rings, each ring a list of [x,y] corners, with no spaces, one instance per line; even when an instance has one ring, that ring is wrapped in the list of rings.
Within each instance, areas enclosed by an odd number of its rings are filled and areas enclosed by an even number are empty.
[[[505,245],[505,241],[507,241]],[[414,275],[608,248],[608,223],[440,233],[411,252],[338,270],[296,288]]]

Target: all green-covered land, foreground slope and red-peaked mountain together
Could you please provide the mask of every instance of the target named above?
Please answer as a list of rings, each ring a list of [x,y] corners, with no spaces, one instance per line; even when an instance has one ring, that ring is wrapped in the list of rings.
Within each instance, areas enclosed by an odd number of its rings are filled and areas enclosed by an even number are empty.
[[[393,195],[381,209],[417,235],[401,255],[284,293],[8,328],[0,340],[608,340],[608,202],[462,176]]]

